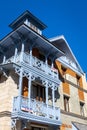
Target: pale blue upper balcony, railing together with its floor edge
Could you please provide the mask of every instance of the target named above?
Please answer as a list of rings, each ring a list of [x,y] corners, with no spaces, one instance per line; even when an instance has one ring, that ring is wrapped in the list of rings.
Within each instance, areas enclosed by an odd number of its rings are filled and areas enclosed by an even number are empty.
[[[14,62],[14,56],[7,59],[5,63],[8,63],[10,61]],[[31,61],[31,65],[30,65],[30,61]],[[34,73],[36,75],[38,75],[39,77],[43,77],[47,80],[51,80],[52,82],[58,84],[60,84],[60,80],[58,77],[58,70],[52,68],[51,66],[49,66],[48,64],[46,64],[45,62],[39,60],[38,58],[31,56],[29,53],[18,53],[16,56],[16,61],[15,61],[16,65],[22,66],[24,70],[27,71],[27,73]]]

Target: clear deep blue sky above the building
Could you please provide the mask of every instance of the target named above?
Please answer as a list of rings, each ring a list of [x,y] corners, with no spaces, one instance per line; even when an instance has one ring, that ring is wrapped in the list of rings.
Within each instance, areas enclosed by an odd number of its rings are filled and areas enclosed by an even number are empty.
[[[1,0],[0,39],[8,25],[29,10],[48,27],[48,38],[64,35],[84,72],[87,72],[87,0]]]

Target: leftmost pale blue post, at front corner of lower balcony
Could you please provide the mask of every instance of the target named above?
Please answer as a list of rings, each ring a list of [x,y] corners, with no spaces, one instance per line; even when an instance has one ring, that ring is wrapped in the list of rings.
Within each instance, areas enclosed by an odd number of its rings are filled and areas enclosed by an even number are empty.
[[[23,69],[20,69],[20,75],[19,75],[19,111],[21,107],[21,95],[22,95],[22,81],[23,81]]]

